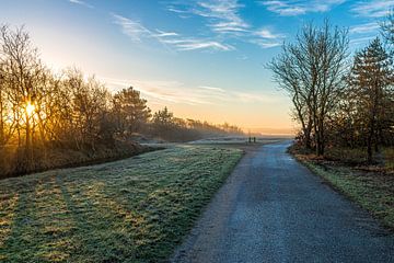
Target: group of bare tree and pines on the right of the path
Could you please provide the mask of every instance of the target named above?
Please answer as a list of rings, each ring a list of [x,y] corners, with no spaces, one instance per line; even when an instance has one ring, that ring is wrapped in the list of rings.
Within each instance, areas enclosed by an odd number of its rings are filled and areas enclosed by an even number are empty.
[[[305,24],[269,64],[300,124],[298,141],[323,156],[327,147],[362,147],[368,162],[394,145],[393,13],[382,34],[352,56],[346,28]]]

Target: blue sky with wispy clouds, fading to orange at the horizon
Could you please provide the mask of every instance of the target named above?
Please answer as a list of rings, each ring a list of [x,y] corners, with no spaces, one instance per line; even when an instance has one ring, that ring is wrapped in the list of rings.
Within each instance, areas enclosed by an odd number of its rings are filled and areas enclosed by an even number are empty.
[[[350,50],[379,34],[394,0],[0,0],[55,71],[77,67],[153,112],[292,133],[291,102],[266,65],[304,23],[349,30]]]

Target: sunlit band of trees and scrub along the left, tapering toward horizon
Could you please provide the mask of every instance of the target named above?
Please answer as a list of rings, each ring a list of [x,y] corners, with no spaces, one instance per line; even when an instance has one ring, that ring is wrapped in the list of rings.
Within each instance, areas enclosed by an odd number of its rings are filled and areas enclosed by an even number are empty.
[[[135,142],[242,135],[241,128],[151,113],[134,88],[112,93],[76,68],[55,73],[28,33],[0,26],[0,178],[132,156]]]

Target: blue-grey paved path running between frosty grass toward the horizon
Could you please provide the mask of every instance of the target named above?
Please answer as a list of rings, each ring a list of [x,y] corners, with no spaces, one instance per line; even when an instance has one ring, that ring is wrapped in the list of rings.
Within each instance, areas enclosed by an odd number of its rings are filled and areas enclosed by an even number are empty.
[[[172,262],[394,262],[394,236],[286,153],[248,152]]]

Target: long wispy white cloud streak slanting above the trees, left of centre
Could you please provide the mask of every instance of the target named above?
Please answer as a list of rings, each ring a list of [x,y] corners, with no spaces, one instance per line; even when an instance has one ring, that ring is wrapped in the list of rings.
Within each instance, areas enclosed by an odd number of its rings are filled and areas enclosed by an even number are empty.
[[[165,32],[161,30],[151,31],[143,26],[139,21],[134,21],[115,13],[112,13],[112,16],[114,19],[114,23],[119,25],[121,32],[134,42],[141,42],[146,38],[154,38],[158,42],[166,46],[172,46],[179,52],[197,49],[228,52],[234,49],[231,45],[209,39],[207,37],[186,37],[176,32]]]

